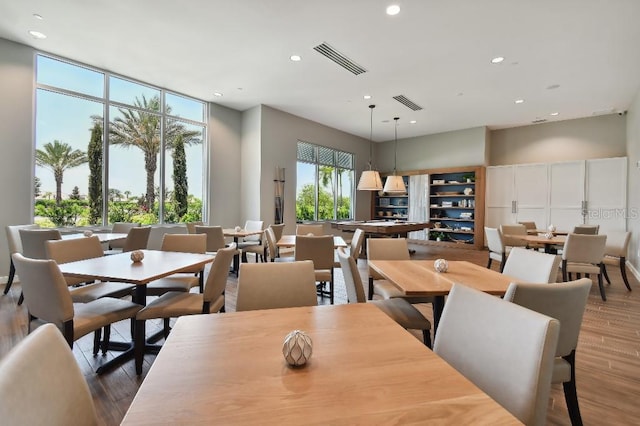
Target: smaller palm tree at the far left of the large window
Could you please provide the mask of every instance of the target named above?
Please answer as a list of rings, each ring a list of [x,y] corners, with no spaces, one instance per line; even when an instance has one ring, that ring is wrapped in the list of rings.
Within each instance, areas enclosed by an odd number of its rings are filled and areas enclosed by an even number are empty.
[[[65,170],[78,167],[88,160],[87,154],[69,144],[54,140],[36,149],[36,165],[50,169],[56,181],[56,204],[62,201],[62,177]]]

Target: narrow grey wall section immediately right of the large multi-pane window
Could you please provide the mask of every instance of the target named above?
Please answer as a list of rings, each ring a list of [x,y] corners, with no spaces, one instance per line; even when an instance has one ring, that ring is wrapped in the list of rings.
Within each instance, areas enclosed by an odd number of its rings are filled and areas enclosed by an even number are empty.
[[[207,155],[209,180],[207,223],[230,228],[240,224],[240,134],[242,114],[221,105],[209,104]]]

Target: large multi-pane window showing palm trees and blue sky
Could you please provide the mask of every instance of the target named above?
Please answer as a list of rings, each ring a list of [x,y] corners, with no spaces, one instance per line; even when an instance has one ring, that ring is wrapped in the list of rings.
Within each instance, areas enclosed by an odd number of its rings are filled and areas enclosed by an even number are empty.
[[[201,220],[204,102],[45,55],[36,81],[36,223]]]

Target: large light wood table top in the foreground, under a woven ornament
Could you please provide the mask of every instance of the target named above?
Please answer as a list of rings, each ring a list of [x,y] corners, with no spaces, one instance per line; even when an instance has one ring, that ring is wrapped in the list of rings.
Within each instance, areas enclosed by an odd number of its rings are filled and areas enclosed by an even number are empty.
[[[313,355],[290,368],[290,331]],[[372,304],[181,317],[123,425],[519,424]]]

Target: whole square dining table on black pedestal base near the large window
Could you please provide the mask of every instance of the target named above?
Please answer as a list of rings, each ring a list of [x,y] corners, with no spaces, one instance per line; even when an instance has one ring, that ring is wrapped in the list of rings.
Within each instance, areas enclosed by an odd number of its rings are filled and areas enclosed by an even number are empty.
[[[186,268],[204,266],[213,261],[214,256],[200,253],[182,253],[172,251],[141,250],[144,259],[132,262],[131,253],[118,253],[59,265],[64,276],[85,278],[87,281],[117,281],[135,284],[133,302],[145,306],[147,304],[147,284],[160,278],[172,275]],[[144,322],[139,321],[144,327]],[[144,333],[144,328],[141,331]],[[144,334],[143,334],[144,335]],[[102,364],[97,373],[101,374],[111,368],[121,365],[134,356],[134,350],[157,353],[159,347],[146,345],[144,348],[134,348],[132,342],[124,345],[114,345],[122,349],[123,353]],[[140,374],[142,371],[138,371]]]

